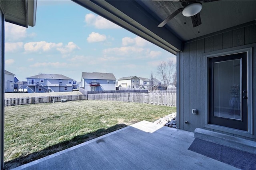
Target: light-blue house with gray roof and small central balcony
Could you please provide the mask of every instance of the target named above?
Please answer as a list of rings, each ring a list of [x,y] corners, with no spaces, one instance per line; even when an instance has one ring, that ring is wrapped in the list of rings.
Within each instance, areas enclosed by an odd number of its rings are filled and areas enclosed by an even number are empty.
[[[116,77],[112,73],[82,72],[82,87],[88,91],[116,90]]]

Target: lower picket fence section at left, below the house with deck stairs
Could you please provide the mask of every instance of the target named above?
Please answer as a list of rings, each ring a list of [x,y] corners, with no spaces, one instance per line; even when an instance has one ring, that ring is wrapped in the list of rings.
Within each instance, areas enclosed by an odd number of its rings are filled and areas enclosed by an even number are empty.
[[[40,97],[25,97],[25,98],[8,98],[8,99],[4,99],[4,106],[16,106],[16,105],[22,105],[22,104],[60,102],[61,99],[67,99],[67,101],[86,100],[87,96],[82,95],[82,94],[77,94],[77,95],[62,95],[62,96],[40,96]]]

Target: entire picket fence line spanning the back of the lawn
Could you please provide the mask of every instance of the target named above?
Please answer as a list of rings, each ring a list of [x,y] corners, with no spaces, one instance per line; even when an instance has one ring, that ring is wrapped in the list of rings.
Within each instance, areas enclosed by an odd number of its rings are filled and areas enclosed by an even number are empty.
[[[77,94],[62,96],[40,96],[24,98],[4,99],[4,106],[16,106],[23,104],[51,103],[60,102],[62,99],[67,101],[74,100],[116,100],[120,102],[146,103],[162,106],[176,107],[176,93],[159,92],[127,92],[127,93],[99,93],[99,94]]]

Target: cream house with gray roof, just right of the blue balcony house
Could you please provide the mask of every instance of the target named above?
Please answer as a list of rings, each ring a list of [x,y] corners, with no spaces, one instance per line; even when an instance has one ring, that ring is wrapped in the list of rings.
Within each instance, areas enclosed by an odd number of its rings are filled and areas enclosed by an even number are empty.
[[[140,87],[140,78],[137,76],[122,77],[118,79],[118,86],[125,88],[139,88]]]

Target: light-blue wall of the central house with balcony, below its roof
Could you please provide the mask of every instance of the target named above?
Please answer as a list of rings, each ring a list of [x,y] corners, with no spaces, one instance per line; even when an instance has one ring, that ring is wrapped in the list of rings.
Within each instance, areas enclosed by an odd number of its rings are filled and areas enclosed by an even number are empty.
[[[92,80],[96,79],[84,79],[83,84],[84,84],[84,89],[91,91],[91,86],[90,83]],[[100,86],[95,86],[96,91],[102,91],[102,90],[116,90],[116,80],[96,80],[97,83],[100,83]]]

